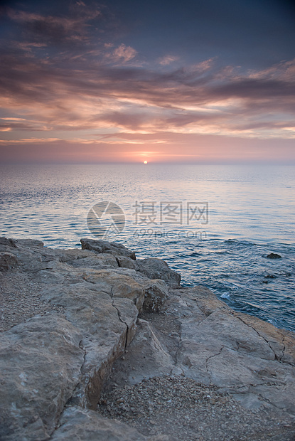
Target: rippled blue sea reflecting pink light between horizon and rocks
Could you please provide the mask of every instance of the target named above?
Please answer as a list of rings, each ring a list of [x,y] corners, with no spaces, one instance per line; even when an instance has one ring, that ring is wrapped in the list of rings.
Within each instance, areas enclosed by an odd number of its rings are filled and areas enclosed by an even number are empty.
[[[9,165],[0,173],[1,235],[58,248],[117,240],[139,258],[166,260],[182,285],[205,285],[233,309],[295,331],[294,166]]]

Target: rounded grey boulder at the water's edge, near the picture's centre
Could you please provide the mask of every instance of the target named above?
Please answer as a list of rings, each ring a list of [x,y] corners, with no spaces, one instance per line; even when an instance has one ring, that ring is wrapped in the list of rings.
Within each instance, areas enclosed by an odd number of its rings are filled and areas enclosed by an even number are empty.
[[[136,262],[139,266],[139,272],[142,272],[146,277],[165,280],[170,287],[179,286],[181,276],[176,271],[171,270],[164,260],[151,257],[144,260],[137,260]]]

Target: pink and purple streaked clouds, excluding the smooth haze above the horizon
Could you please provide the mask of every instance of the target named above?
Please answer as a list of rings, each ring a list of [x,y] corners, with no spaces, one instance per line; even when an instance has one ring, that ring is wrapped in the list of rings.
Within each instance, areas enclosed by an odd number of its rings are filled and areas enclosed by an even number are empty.
[[[27,37],[10,46],[4,41],[1,51],[1,132],[16,141],[29,139],[24,132],[80,142],[124,132],[135,143],[139,134],[295,136],[295,60],[247,71],[215,58],[179,67],[177,55],[166,55],[148,63],[109,36],[93,43],[102,12],[82,1],[68,16],[12,10],[9,16]],[[53,42],[60,46],[48,55]]]

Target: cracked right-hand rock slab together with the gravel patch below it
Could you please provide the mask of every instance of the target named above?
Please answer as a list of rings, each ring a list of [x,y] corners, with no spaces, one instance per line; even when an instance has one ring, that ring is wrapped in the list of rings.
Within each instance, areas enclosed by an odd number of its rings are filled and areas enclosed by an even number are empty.
[[[232,311],[205,287],[170,289],[137,326],[101,415],[171,441],[295,439],[294,334]]]

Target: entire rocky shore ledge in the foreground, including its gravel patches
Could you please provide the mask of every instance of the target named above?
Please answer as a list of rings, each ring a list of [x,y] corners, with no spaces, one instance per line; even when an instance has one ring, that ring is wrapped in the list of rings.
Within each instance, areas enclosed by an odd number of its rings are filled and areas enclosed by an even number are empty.
[[[0,238],[0,439],[294,440],[295,335],[118,243]]]

